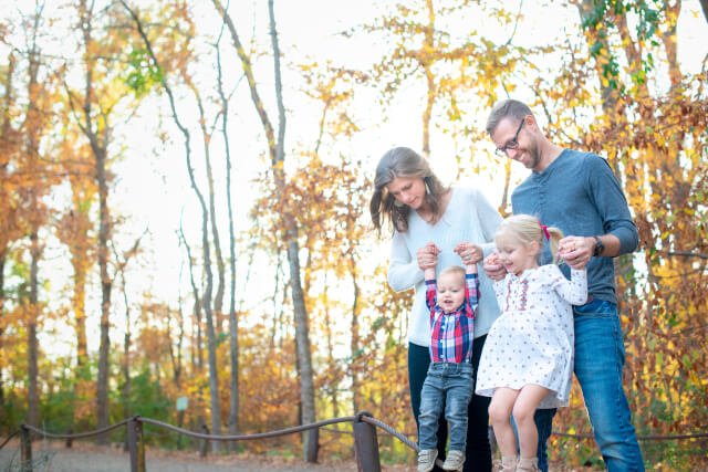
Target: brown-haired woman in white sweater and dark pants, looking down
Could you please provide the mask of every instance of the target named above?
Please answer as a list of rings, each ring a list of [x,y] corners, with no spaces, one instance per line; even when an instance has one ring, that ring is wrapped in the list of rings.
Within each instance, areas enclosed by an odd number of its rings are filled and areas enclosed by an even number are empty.
[[[369,211],[381,234],[386,221],[393,227],[388,283],[396,292],[415,287],[415,301],[408,319],[408,386],[416,423],[420,390],[430,356],[430,325],[425,304],[425,283],[420,266],[437,258],[437,270],[479,259],[493,249],[494,231],[501,216],[487,199],[470,188],[449,188],[440,183],[426,159],[406,147],[387,151],[378,161]],[[434,242],[441,250],[426,249]],[[475,377],[487,332],[499,316],[492,282],[479,271],[481,296],[475,319],[472,366]],[[475,395],[469,402],[467,461],[465,471],[491,471],[488,439],[489,398]],[[445,457],[447,424],[438,428],[438,454]]]

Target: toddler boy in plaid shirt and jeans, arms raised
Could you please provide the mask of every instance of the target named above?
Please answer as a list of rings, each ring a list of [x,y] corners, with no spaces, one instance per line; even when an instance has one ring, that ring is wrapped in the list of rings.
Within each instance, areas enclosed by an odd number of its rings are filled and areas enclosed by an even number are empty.
[[[479,303],[477,265],[449,266],[437,282],[435,266],[424,270],[430,310],[430,367],[420,392],[418,471],[429,472],[438,455],[438,418],[445,406],[450,447],[445,470],[461,470],[467,443],[467,406],[472,397],[473,319]]]

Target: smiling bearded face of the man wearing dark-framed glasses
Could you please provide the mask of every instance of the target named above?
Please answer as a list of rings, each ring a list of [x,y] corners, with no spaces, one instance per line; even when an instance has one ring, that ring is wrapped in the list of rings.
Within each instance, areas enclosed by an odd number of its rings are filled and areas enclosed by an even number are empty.
[[[503,149],[508,158],[523,164],[527,169],[539,170],[539,146],[529,129],[528,119],[506,117],[499,122],[490,137],[497,149]]]

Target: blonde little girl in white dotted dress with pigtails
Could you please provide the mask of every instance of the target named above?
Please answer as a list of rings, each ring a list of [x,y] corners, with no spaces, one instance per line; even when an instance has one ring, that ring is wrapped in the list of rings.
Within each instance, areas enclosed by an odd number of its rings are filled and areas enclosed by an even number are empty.
[[[561,238],[559,229],[527,214],[507,218],[494,234],[492,258],[499,259],[508,274],[494,283],[502,315],[489,331],[482,350],[477,395],[492,397],[489,416],[502,471],[539,470],[533,413],[537,408],[568,405],[574,343],[571,305],[587,301],[587,277],[585,269],[572,270],[569,281],[555,264],[539,266],[544,240],[560,258],[574,250],[559,248]],[[511,415],[519,433],[519,461]]]

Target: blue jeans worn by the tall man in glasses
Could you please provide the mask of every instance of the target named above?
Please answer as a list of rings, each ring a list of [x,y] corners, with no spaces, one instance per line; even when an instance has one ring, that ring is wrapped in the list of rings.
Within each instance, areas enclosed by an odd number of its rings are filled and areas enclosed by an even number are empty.
[[[622,388],[624,342],[617,306],[603,300],[573,306],[575,326],[575,377],[585,408],[610,472],[644,471],[642,451],[632,426],[629,406]],[[555,410],[537,410],[539,468],[548,471],[545,441],[551,436]]]

